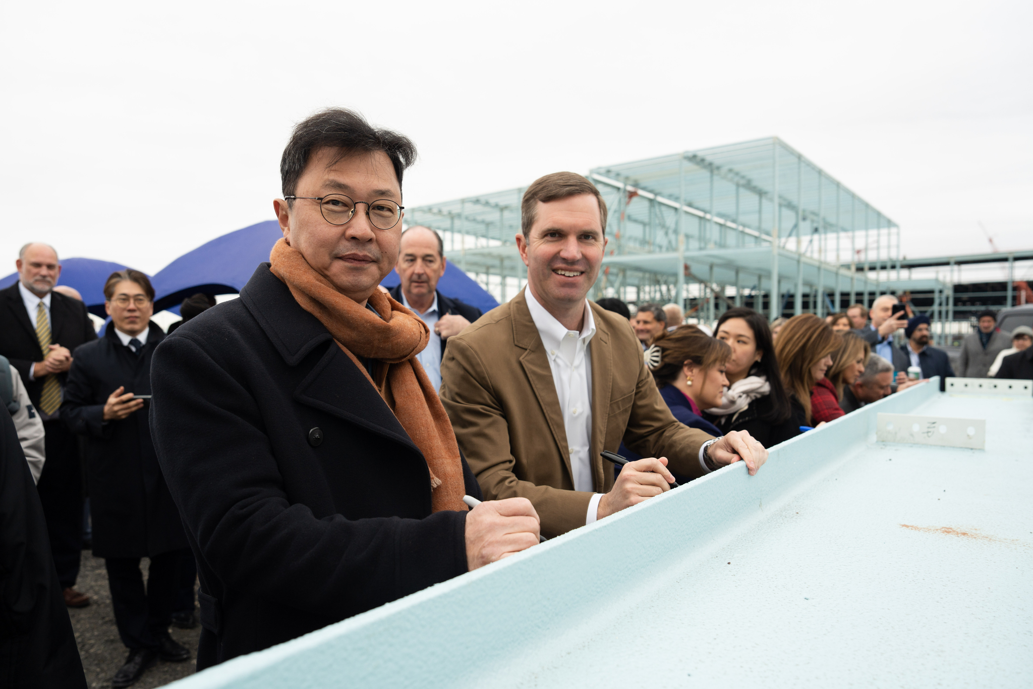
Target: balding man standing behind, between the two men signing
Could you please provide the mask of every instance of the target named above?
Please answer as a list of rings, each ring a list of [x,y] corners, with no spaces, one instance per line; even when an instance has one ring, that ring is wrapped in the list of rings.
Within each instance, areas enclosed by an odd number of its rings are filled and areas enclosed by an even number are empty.
[[[480,309],[438,291],[438,280],[445,274],[444,243],[430,227],[415,225],[402,232],[395,270],[402,281],[388,293],[431,328],[431,341],[416,358],[434,389],[441,389],[441,357],[448,338],[480,318]]]

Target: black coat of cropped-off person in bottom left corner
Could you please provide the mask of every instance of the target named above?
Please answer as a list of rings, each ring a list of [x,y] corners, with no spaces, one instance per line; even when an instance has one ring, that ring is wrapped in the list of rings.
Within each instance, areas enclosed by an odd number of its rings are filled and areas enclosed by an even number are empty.
[[[46,521],[10,414],[0,409],[0,687],[86,689]]]

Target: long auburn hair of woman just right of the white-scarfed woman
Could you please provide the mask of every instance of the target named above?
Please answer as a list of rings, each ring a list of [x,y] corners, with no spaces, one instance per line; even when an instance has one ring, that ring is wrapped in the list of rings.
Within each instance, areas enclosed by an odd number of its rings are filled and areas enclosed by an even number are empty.
[[[775,340],[775,356],[786,388],[804,407],[805,418],[811,422],[811,388],[817,383],[811,369],[836,351],[842,338],[833,333],[813,313],[793,316],[786,321]]]

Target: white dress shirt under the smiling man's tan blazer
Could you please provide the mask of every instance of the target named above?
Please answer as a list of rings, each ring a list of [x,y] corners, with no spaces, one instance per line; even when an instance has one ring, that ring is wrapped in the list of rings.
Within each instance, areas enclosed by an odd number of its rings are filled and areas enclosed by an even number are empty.
[[[560,399],[560,409],[563,410],[563,428],[567,433],[567,453],[573,471],[574,490],[592,491],[592,458],[589,456],[592,439],[592,354],[588,347],[595,337],[592,309],[588,300],[585,300],[585,323],[578,333],[567,330],[566,325],[545,311],[530,288],[525,289],[524,294],[531,319],[534,320],[534,326],[538,328],[538,336],[545,347],[556,395]],[[601,498],[601,493],[592,496],[585,524],[595,522]]]

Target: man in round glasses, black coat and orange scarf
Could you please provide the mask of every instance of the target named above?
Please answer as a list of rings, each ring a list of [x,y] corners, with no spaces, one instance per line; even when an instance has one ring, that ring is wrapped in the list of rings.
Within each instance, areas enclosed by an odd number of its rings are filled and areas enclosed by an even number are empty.
[[[152,437],[200,577],[198,669],[538,542],[527,500],[466,509],[480,490],[415,358],[430,328],[377,289],[414,159],[349,111],[301,122],[270,262],[154,353]]]

